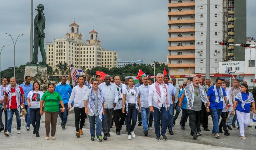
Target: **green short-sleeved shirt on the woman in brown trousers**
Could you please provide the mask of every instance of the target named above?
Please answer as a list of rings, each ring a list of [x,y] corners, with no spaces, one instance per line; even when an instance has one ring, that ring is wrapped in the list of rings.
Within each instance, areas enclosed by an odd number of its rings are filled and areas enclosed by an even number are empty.
[[[56,112],[59,111],[59,101],[62,101],[61,96],[58,92],[50,93],[49,91],[45,92],[41,98],[42,101],[45,101],[45,111]]]

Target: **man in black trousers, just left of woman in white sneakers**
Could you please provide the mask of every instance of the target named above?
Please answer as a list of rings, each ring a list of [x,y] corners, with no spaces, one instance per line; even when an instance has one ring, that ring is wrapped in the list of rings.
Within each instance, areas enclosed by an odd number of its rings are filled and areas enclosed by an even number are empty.
[[[119,76],[114,77],[114,82],[116,83],[116,89],[118,92],[118,102],[116,103],[116,107],[114,107],[113,118],[116,126],[116,134],[120,135],[120,131],[122,130],[122,125],[124,124],[126,116],[126,113],[122,113],[123,93],[125,93],[126,85],[121,83]]]

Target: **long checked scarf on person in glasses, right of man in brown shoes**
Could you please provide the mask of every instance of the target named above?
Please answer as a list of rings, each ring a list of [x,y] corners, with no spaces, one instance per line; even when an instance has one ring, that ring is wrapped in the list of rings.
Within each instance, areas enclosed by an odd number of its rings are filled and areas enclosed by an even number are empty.
[[[103,112],[103,94],[102,90],[100,88],[97,89],[97,100],[98,100],[98,112],[99,112],[99,120],[102,121],[102,112]],[[90,89],[90,94],[89,94],[89,108],[91,113],[94,115],[95,114],[95,94],[94,94],[94,89]]]

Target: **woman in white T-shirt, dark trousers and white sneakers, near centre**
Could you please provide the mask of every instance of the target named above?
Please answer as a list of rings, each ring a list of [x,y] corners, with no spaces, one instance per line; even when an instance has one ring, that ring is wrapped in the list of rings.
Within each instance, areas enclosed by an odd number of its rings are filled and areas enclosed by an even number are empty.
[[[125,92],[123,92],[123,113],[125,113],[126,109],[127,121],[125,121],[125,123],[129,140],[135,138],[133,130],[137,122],[137,109],[141,111],[140,98],[138,96],[138,93],[138,88],[136,86],[133,86],[133,78],[128,78],[128,85]],[[126,107],[124,108],[125,104]]]

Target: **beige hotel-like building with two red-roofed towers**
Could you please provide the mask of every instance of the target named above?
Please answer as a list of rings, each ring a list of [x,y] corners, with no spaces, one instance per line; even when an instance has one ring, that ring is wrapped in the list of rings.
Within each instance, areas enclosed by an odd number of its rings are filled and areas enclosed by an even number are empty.
[[[47,64],[53,68],[56,68],[56,65],[60,63],[72,64],[77,68],[85,66],[86,69],[97,66],[117,67],[117,51],[104,50],[101,47],[101,41],[98,39],[98,32],[95,30],[89,32],[89,39],[86,42],[82,41],[82,36],[82,34],[79,34],[79,25],[74,22],[69,25],[66,38],[58,38],[54,39],[54,42],[47,42]],[[106,58],[106,60],[103,58]]]

